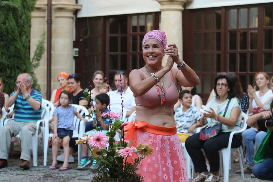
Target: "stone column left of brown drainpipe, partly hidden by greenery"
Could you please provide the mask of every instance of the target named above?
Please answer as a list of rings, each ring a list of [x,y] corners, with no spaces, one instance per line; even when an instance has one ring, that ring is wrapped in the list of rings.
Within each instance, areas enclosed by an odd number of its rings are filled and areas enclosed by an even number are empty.
[[[30,29],[30,58],[32,58],[40,36],[46,31],[46,1],[39,0],[36,2],[35,9],[31,12],[31,29]],[[46,47],[46,43],[45,43]],[[40,66],[35,70],[35,75],[41,88],[43,98],[46,91],[46,54],[42,56]]]

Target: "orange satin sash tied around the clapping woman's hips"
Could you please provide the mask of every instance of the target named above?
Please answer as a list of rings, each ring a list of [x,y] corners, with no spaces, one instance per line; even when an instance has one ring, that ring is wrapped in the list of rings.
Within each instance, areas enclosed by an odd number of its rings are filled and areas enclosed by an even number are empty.
[[[146,131],[157,135],[175,135],[177,133],[176,125],[173,127],[164,127],[152,125],[146,121],[132,121],[124,126],[124,132],[127,132],[124,136],[125,140],[133,140],[136,136],[136,130]]]

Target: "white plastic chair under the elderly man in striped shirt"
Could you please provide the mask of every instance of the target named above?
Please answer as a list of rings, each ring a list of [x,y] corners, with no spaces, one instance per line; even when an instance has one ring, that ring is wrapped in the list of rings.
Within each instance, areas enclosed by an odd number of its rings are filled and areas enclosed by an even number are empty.
[[[44,100],[43,100],[44,101]],[[33,158],[33,166],[37,167],[37,160],[38,160],[38,132],[39,132],[39,126],[40,123],[43,123],[45,121],[48,121],[50,118],[50,111],[49,108],[50,106],[46,105],[44,102],[42,101],[42,114],[41,114],[41,118],[42,120],[38,120],[36,122],[36,132],[32,137],[32,158]],[[4,122],[4,125],[7,124],[8,122],[14,120],[14,118],[10,118],[10,119],[6,119]],[[19,138],[19,135],[15,136],[16,138]],[[12,153],[13,150],[13,142],[11,143],[10,146],[10,154]]]

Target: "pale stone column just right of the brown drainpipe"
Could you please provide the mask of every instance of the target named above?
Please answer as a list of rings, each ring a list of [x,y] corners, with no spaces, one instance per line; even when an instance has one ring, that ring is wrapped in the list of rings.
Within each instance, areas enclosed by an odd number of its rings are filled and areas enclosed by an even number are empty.
[[[59,88],[57,75],[60,72],[74,73],[73,70],[73,29],[74,12],[82,5],[75,0],[52,1],[52,66],[51,88]]]

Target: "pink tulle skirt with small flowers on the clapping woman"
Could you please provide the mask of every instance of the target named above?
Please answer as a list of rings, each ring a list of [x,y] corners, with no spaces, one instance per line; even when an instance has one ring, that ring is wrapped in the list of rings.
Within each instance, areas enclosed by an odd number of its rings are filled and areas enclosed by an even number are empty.
[[[184,150],[177,134],[158,135],[136,130],[132,144],[149,144],[153,154],[140,161],[136,172],[145,182],[187,182]],[[140,156],[139,156],[140,157]]]

